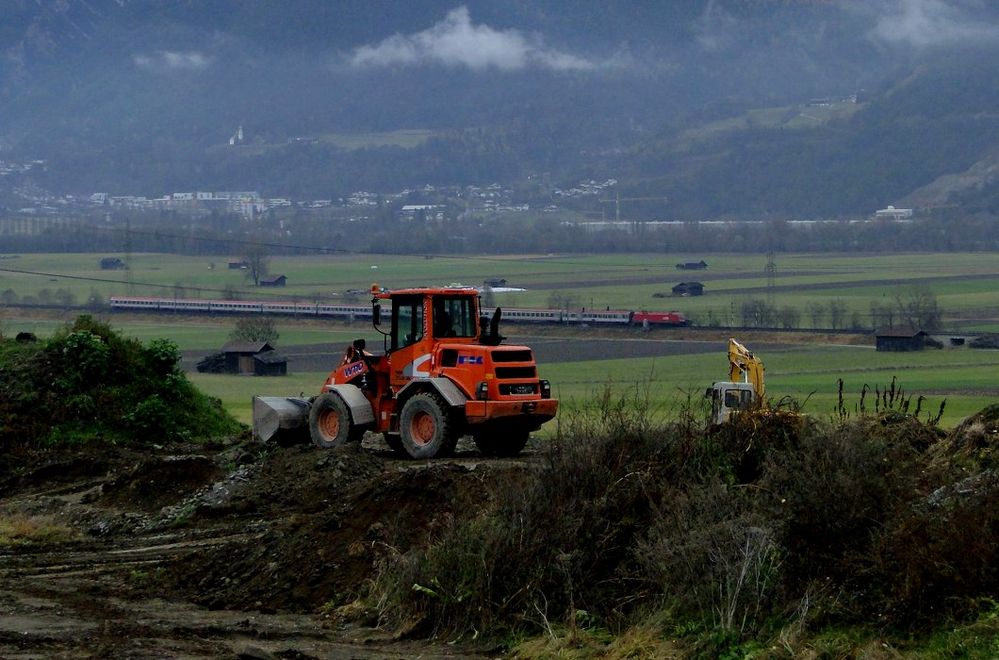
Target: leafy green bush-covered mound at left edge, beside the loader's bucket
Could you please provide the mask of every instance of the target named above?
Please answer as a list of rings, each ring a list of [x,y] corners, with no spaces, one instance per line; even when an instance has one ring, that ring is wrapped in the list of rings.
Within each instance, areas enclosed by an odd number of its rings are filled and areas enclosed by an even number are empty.
[[[166,339],[143,345],[80,316],[40,342],[0,342],[0,446],[158,443],[238,432]]]

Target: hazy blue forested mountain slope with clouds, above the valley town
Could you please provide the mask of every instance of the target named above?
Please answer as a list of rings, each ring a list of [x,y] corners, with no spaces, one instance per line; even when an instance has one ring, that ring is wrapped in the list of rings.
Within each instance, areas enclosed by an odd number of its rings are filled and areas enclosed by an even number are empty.
[[[548,172],[667,194],[684,217],[835,216],[996,139],[999,9],[964,0],[8,5],[0,157],[46,159],[36,182],[57,192],[329,197]],[[860,90],[809,126],[809,99]],[[334,137],[400,129],[430,139]]]

